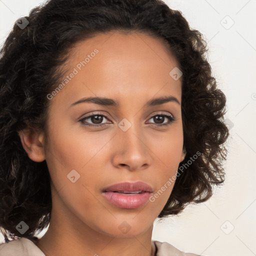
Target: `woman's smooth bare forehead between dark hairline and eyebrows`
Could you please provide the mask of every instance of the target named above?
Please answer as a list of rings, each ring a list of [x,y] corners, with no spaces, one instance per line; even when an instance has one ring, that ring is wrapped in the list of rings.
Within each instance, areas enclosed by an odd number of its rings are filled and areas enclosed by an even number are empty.
[[[180,98],[181,79],[169,75],[176,66],[174,55],[158,38],[138,32],[98,34],[73,46],[65,75],[75,75],[55,98],[61,94],[65,102],[95,95],[139,99],[156,93]]]

